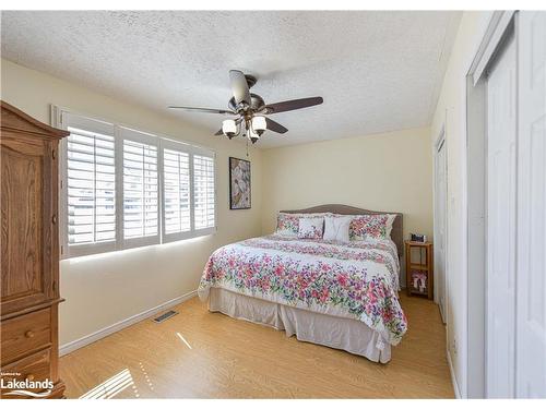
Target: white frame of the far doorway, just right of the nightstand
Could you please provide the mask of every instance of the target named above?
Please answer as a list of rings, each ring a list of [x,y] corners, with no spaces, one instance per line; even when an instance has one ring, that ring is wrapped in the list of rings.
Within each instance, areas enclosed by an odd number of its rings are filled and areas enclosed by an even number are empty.
[[[441,320],[443,322],[443,324],[447,324],[448,323],[448,305],[449,305],[449,302],[448,302],[448,288],[449,288],[449,280],[448,280],[448,206],[449,206],[449,201],[448,201],[448,139],[446,137],[446,123],[443,123],[441,125],[441,129],[440,129],[440,132],[438,134],[438,137],[436,139],[436,142],[434,143],[434,164],[435,164],[435,169],[434,169],[434,242],[435,243],[439,243],[439,232],[438,232],[438,228],[437,226],[439,225],[439,221],[438,221],[438,206],[439,206],[439,203],[438,203],[438,192],[437,192],[437,169],[438,169],[438,153],[439,153],[439,149],[440,147],[443,145],[443,161],[444,161],[444,187],[443,187],[443,190],[444,190],[444,215],[443,215],[443,228],[444,228],[444,234],[443,234],[443,240],[444,240],[444,248],[443,248],[443,311],[439,308],[440,310],[440,315],[441,315]],[[438,260],[440,260],[440,257],[437,256],[437,251],[438,251],[438,245],[435,245],[435,264],[438,262]],[[435,265],[435,270],[434,270],[434,277],[435,277],[435,289],[434,289],[434,292],[435,292],[435,302],[437,304],[440,303],[440,299],[439,299],[439,296],[438,296],[438,284],[439,284],[439,280],[438,280],[438,268],[436,268],[436,265]],[[446,330],[447,330],[447,326],[446,326]]]

